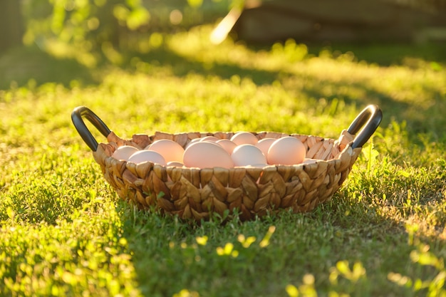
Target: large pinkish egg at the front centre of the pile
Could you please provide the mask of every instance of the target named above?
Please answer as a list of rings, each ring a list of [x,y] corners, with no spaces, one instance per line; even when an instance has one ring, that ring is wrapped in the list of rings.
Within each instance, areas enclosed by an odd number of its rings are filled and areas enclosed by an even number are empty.
[[[185,150],[183,161],[186,167],[234,167],[231,156],[214,142],[196,142],[190,145]]]

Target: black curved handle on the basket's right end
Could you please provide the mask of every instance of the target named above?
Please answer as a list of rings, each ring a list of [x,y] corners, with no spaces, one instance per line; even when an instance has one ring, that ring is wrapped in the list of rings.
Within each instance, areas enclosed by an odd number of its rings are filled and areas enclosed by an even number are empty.
[[[364,108],[347,129],[350,134],[356,134],[359,129],[363,127],[361,132],[356,135],[351,147],[363,147],[365,142],[367,142],[370,136],[372,136],[375,130],[378,128],[382,119],[383,112],[378,105],[368,105],[366,108]]]

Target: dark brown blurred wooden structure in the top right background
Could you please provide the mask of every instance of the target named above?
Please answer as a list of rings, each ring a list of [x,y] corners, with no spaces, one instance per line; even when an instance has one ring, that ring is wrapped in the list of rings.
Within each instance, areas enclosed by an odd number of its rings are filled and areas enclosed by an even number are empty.
[[[446,41],[446,0],[247,0],[231,32],[250,43]]]

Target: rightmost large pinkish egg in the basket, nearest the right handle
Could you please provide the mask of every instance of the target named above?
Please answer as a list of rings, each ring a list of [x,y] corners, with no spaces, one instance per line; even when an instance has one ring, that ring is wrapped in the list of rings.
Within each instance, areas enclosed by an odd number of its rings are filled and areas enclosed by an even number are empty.
[[[268,150],[268,164],[295,165],[304,161],[306,150],[301,140],[286,136],[275,140]]]

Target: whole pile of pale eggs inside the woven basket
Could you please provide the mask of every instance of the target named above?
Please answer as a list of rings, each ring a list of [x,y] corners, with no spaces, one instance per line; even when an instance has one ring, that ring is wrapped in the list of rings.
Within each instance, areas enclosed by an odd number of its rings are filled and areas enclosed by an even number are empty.
[[[156,140],[144,150],[124,145],[112,157],[137,164],[150,161],[163,166],[228,169],[314,162],[306,159],[306,148],[296,137],[258,140],[249,132],[237,132],[230,140],[214,136],[195,138],[185,148],[172,140]]]

